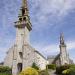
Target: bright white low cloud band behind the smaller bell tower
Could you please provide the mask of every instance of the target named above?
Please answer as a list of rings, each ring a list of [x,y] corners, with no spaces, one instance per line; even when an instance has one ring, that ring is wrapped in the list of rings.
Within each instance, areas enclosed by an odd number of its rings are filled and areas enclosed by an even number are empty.
[[[67,42],[67,51],[75,49],[75,41]],[[45,55],[54,55],[60,52],[59,44],[51,44],[46,46],[36,45],[34,46],[40,52],[43,52]]]

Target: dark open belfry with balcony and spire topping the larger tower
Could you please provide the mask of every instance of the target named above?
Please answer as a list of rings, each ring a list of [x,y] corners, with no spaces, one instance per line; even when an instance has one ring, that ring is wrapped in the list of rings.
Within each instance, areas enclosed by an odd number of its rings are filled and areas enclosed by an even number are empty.
[[[20,13],[18,15],[18,21],[15,22],[15,27],[19,27],[19,28],[27,27],[29,31],[32,30],[27,0],[22,0],[22,6],[20,8]]]

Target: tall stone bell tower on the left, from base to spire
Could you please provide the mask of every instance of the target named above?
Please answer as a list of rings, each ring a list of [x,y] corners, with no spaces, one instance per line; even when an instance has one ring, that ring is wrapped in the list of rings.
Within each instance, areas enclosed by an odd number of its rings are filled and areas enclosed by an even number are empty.
[[[22,0],[22,7],[20,8],[18,21],[15,22],[15,28],[16,42],[13,51],[12,74],[18,75],[24,67],[23,59],[25,58],[24,51],[26,50],[24,49],[24,46],[29,44],[29,33],[32,30],[27,0]]]

